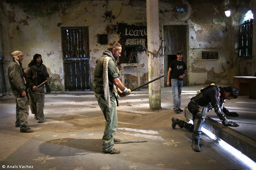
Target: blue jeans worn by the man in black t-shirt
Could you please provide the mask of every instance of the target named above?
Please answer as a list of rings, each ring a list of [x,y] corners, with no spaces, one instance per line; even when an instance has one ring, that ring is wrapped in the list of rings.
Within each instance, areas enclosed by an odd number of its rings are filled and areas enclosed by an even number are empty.
[[[181,89],[183,87],[183,80],[171,79],[171,93],[173,93],[173,109],[180,108]]]

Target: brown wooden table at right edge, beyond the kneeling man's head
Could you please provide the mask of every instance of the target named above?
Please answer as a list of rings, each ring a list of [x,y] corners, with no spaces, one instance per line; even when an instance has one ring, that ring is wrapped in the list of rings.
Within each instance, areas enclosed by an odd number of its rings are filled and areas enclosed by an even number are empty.
[[[256,99],[256,77],[233,77],[233,86],[239,89],[239,96],[249,95],[249,98]]]

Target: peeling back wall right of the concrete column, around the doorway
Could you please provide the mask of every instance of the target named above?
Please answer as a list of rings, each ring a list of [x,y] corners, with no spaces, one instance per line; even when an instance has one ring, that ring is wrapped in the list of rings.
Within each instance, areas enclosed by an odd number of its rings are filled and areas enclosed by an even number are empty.
[[[183,0],[168,5],[163,4],[165,20],[162,25],[188,25],[188,84],[196,85],[215,81],[219,84],[232,83],[231,18],[225,18],[216,10],[222,1]],[[188,11],[176,15],[172,9],[177,5],[187,5]],[[220,3],[221,4],[221,3]],[[219,6],[218,6],[219,5]],[[166,8],[169,7],[169,10]],[[172,16],[167,17],[167,16]],[[219,60],[201,60],[202,51],[218,51]]]

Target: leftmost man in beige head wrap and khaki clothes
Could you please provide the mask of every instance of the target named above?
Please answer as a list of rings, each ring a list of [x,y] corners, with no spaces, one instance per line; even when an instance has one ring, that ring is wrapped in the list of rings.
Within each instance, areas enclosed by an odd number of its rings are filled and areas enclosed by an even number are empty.
[[[27,117],[29,116],[29,106],[26,95],[26,80],[24,77],[24,69],[22,68],[22,60],[24,55],[20,51],[12,52],[12,62],[8,67],[8,80],[12,88],[12,92],[16,97],[16,122],[15,127],[20,127],[20,132],[34,132],[29,127]]]

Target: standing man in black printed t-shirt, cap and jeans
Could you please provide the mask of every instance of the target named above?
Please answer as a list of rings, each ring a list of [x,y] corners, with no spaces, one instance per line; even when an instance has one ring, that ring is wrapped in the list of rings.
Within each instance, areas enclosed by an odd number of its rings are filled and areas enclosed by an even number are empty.
[[[177,114],[183,111],[180,108],[180,103],[181,89],[183,87],[183,78],[186,75],[186,64],[182,60],[182,57],[183,52],[178,51],[177,60],[173,60],[171,62],[167,75],[167,85],[171,85],[171,92],[173,94],[173,110]]]

